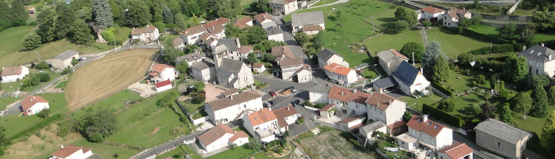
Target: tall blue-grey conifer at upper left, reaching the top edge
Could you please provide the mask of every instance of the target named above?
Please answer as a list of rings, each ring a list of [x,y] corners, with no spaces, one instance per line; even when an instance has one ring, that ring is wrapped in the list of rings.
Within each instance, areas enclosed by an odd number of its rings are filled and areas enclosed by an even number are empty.
[[[105,29],[114,23],[112,17],[112,7],[108,0],[93,1],[94,21],[97,21],[98,28]]]

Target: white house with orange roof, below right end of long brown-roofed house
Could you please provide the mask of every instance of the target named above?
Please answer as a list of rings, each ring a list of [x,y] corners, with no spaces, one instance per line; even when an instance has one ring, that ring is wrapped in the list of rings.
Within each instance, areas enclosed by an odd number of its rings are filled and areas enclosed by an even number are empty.
[[[270,108],[247,113],[243,116],[243,126],[250,134],[255,135],[260,141],[270,142],[276,140],[275,134],[280,133],[278,118]]]

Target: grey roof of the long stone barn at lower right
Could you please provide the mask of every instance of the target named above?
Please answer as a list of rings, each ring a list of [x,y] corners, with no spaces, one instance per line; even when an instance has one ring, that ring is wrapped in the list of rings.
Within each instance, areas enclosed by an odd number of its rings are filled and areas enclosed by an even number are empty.
[[[492,118],[488,118],[487,120],[478,123],[474,129],[483,131],[489,135],[514,144],[523,138],[532,135],[528,131],[524,131],[520,128]]]

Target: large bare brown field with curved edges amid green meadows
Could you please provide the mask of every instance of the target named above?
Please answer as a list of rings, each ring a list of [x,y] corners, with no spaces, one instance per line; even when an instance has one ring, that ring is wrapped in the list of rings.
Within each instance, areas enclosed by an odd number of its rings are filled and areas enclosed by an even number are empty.
[[[65,90],[70,111],[124,90],[146,76],[159,49],[130,49],[78,68]]]

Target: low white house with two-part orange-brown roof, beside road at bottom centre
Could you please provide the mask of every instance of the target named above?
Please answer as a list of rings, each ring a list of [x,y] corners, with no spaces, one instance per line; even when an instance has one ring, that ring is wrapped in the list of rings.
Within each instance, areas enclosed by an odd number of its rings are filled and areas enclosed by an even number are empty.
[[[218,148],[227,147],[235,143],[237,146],[249,143],[249,135],[244,131],[234,131],[227,125],[218,124],[210,130],[197,137],[200,146],[206,152],[217,150]]]

